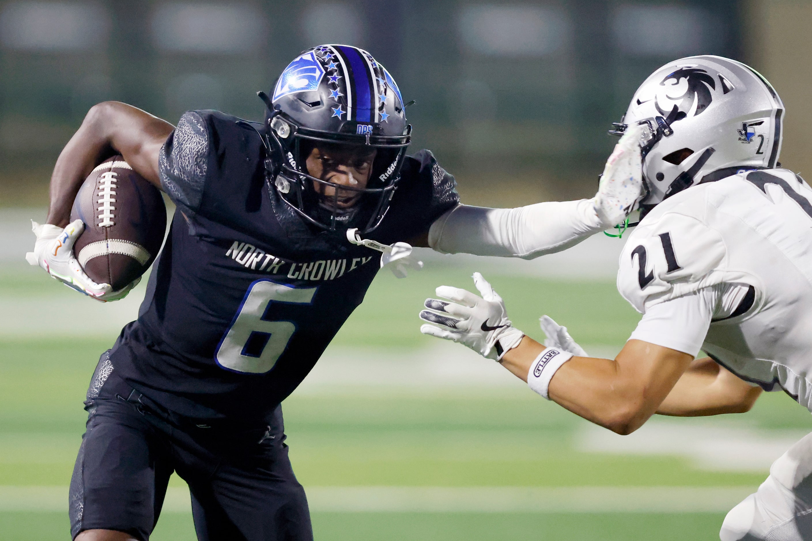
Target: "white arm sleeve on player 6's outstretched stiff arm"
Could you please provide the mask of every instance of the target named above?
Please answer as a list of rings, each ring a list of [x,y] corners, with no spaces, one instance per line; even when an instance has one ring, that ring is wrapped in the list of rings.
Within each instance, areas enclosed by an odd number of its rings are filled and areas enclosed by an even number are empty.
[[[429,245],[440,253],[533,259],[568,249],[604,228],[594,199],[516,209],[460,205],[431,224]]]

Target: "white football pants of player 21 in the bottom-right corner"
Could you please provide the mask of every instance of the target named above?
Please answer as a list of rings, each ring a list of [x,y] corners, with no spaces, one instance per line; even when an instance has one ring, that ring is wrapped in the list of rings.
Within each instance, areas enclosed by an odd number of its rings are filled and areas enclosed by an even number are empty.
[[[812,434],[773,462],[767,481],[724,518],[719,539],[812,540]]]

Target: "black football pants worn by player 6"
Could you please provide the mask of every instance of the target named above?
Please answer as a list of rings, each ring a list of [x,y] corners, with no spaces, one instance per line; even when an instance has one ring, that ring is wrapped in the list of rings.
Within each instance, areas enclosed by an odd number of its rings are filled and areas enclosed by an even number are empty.
[[[270,426],[257,429],[192,421],[128,387],[103,361],[71,478],[71,538],[102,529],[147,541],[175,471],[192,493],[201,541],[313,539],[304,489],[283,443],[281,407]]]

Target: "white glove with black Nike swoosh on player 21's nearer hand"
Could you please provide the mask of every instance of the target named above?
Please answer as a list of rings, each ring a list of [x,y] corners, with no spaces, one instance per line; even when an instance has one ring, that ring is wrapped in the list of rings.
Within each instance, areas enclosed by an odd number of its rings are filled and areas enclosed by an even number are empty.
[[[460,288],[440,286],[437,295],[449,301],[426,299],[420,318],[424,335],[460,342],[475,352],[499,361],[508,350],[519,345],[522,331],[511,327],[502,297],[478,272],[473,283],[482,297]]]

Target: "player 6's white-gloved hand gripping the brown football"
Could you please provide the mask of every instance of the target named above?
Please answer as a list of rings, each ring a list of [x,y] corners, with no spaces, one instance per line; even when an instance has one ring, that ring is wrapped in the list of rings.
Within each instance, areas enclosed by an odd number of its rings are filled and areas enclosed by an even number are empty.
[[[37,236],[34,251],[25,254],[25,259],[34,266],[41,266],[54,279],[69,288],[83,292],[97,301],[118,301],[135,288],[139,280],[119,291],[113,291],[109,283],[96,283],[84,274],[79,261],[73,255],[73,243],[84,231],[84,223],[75,220],[67,227],[57,227],[50,223],[39,224],[32,221],[32,231]]]

